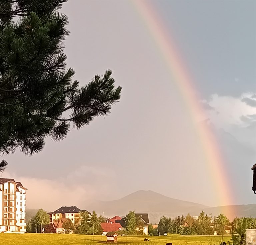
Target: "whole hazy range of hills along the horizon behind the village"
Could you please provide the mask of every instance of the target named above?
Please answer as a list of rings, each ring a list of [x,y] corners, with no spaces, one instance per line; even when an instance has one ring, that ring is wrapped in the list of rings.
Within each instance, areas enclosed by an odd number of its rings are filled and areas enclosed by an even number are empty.
[[[74,203],[73,205],[75,206],[76,204]],[[124,216],[131,210],[138,213],[148,213],[149,221],[153,224],[157,224],[163,215],[172,218],[178,215],[185,216],[188,213],[198,215],[202,210],[207,214],[212,214],[212,216],[218,216],[223,213],[230,220],[243,216],[256,217],[256,204],[208,207],[199,203],[170,198],[150,190],[136,191],[113,201],[86,202],[81,208],[85,208],[90,212],[95,210],[99,215],[104,212],[105,217]],[[27,208],[26,219],[35,215],[36,211],[36,209]]]

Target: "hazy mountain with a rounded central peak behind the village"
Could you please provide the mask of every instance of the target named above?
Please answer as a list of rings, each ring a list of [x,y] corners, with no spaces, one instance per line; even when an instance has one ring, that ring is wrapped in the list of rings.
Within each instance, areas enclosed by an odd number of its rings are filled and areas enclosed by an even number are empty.
[[[124,216],[129,211],[134,210],[138,213],[148,213],[151,223],[158,223],[162,215],[176,217],[177,215],[199,213],[208,206],[182,201],[161,195],[154,191],[140,190],[121,199],[113,201],[95,201],[87,206],[89,210],[95,210],[104,216],[112,217],[115,215]]]

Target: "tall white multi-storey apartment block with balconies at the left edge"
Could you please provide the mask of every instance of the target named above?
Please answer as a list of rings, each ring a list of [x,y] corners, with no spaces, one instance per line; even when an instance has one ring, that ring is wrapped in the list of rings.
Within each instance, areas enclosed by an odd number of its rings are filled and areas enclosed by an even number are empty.
[[[26,232],[26,190],[14,179],[0,178],[0,232]]]

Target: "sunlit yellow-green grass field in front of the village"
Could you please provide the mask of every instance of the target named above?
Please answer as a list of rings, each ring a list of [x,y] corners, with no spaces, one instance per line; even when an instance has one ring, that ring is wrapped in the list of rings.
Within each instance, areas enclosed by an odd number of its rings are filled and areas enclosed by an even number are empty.
[[[118,237],[118,244],[123,245],[219,245],[221,236],[147,236],[149,242],[143,241],[145,236]],[[224,236],[225,242],[230,236]],[[4,245],[93,245],[107,244],[105,236],[64,235],[64,234],[0,234],[0,243]]]

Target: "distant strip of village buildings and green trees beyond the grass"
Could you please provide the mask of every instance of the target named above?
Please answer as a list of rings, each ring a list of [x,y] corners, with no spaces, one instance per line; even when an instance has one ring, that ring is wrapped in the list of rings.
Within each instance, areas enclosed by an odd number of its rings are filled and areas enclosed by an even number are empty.
[[[202,235],[230,234],[232,223],[220,214],[211,217],[203,211],[199,216],[162,216],[158,224],[151,224],[148,213],[130,211],[126,216],[105,218],[76,206],[62,206],[46,213],[39,209],[30,220],[25,220],[26,188],[21,182],[0,178],[0,216],[2,233],[77,233],[95,235]]]

